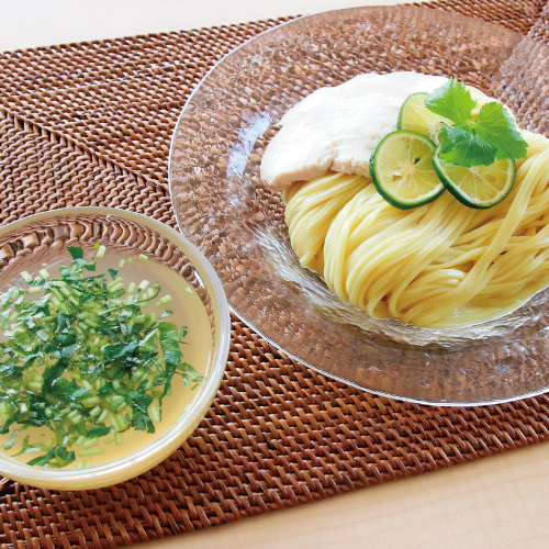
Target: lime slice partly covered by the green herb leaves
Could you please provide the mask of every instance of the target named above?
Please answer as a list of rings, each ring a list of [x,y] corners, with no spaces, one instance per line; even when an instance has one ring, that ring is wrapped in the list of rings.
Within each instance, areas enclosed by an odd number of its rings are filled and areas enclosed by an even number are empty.
[[[442,160],[439,147],[433,156],[433,165],[444,186],[469,208],[485,209],[501,202],[515,183],[515,160],[495,160],[490,166],[466,168]]]

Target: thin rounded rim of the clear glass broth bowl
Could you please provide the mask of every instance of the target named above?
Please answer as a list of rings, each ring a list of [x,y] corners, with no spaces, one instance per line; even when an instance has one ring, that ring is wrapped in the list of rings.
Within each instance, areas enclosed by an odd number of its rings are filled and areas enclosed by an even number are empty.
[[[159,233],[160,235],[168,238],[170,242],[177,245],[178,248],[184,254],[184,256],[191,261],[191,264],[199,270],[200,276],[204,283],[210,282],[212,285],[212,304],[214,304],[214,314],[219,316],[219,346],[214,347],[213,352],[215,354],[215,360],[213,362],[212,372],[210,377],[205,380],[202,392],[199,393],[198,399],[192,401],[192,406],[189,412],[183,416],[179,423],[171,427],[165,435],[163,435],[157,440],[150,442],[149,445],[143,447],[130,456],[111,461],[109,463],[103,463],[100,466],[90,467],[88,469],[67,469],[67,470],[52,470],[34,468],[23,463],[8,462],[0,457],[2,463],[2,472],[10,478],[13,477],[25,478],[29,480],[35,480],[36,484],[41,484],[41,479],[47,475],[47,483],[53,484],[55,480],[64,481],[63,484],[69,481],[85,481],[86,479],[93,478],[94,484],[105,485],[101,481],[102,479],[108,480],[109,477],[115,474],[116,471],[122,472],[128,464],[137,466],[136,470],[141,474],[147,471],[154,464],[149,466],[147,463],[147,456],[160,451],[161,448],[169,446],[173,442],[188,426],[199,423],[203,417],[200,410],[208,403],[208,407],[211,405],[211,401],[215,396],[215,393],[220,386],[221,380],[225,372],[225,366],[227,361],[228,347],[231,341],[231,315],[227,299],[223,285],[205,256],[192,244],[188,238],[177,231],[170,228],[164,223],[147,217],[146,215],[130,212],[126,210],[117,210],[115,208],[102,208],[102,206],[82,206],[82,208],[64,208],[59,210],[51,210],[48,212],[38,213],[35,215],[30,215],[29,217],[23,217],[22,220],[14,221],[9,225],[0,228],[0,237],[9,234],[13,229],[23,227],[30,223],[40,222],[42,220],[49,220],[66,215],[74,214],[90,214],[99,215],[109,219],[109,216],[116,216],[125,220],[133,221],[139,225],[145,225]],[[182,442],[182,441],[181,441]],[[142,464],[143,470],[139,469],[138,463]],[[155,463],[156,464],[156,463]],[[134,477],[134,474],[132,474]]]

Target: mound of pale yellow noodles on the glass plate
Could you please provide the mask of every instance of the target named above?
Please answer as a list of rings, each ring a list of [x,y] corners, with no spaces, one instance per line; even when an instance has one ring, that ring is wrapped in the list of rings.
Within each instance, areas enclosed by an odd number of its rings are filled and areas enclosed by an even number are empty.
[[[549,285],[549,139],[522,133],[528,157],[488,210],[449,192],[399,210],[345,173],[293,183],[282,193],[293,249],[372,317],[447,328],[513,311]]]

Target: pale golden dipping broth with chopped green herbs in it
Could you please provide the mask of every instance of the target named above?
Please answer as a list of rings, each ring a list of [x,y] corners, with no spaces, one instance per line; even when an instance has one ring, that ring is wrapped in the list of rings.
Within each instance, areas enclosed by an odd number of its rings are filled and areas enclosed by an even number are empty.
[[[0,288],[0,451],[82,469],[173,427],[203,379],[212,332],[194,289],[154,258],[68,249],[72,258],[61,249],[48,265],[18,262]]]

